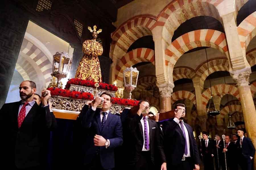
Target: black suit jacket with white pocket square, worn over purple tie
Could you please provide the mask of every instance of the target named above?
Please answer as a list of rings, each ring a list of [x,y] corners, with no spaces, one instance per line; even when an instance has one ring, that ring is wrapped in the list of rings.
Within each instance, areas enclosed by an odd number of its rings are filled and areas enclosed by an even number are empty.
[[[122,113],[123,114],[123,113]],[[135,115],[134,117],[126,117],[126,130],[125,130],[125,150],[127,151],[128,164],[135,165],[139,158],[141,157],[142,149],[143,149],[143,128],[141,124],[142,115]],[[156,165],[155,157],[160,156],[161,162],[166,162],[164,148],[163,148],[163,135],[158,127],[157,123],[154,120],[148,119],[149,125],[149,137],[150,137],[150,154],[151,161],[153,165]]]

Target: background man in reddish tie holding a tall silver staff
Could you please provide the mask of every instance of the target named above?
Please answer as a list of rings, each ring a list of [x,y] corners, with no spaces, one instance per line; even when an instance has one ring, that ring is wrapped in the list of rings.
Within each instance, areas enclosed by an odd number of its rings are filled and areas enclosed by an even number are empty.
[[[226,169],[225,163],[225,155],[226,153],[226,163],[227,169],[229,170],[238,170],[236,164],[234,164],[234,159],[236,157],[236,145],[234,142],[230,141],[230,137],[228,135],[225,136],[225,148],[222,150],[222,169]]]

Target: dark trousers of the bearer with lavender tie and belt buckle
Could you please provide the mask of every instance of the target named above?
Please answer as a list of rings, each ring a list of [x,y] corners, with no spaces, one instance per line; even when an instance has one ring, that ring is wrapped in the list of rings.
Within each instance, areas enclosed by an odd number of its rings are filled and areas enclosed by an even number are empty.
[[[181,161],[178,165],[168,164],[167,170],[193,170],[195,164],[193,164],[193,158],[186,157],[185,160]]]

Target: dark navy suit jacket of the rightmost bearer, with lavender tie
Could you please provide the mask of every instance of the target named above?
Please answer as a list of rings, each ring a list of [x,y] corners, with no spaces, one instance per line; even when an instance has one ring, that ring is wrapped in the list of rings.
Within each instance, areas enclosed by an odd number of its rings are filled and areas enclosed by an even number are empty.
[[[168,167],[181,163],[185,152],[185,137],[180,126],[173,120],[163,122],[164,149]],[[189,124],[184,123],[189,134],[190,156],[194,164],[200,164],[199,152],[193,135],[193,130]]]

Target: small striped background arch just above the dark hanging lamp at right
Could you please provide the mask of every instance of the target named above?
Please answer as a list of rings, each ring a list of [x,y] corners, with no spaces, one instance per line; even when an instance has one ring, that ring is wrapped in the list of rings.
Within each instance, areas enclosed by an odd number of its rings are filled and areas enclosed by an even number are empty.
[[[224,96],[225,94],[230,94],[236,98],[238,98],[238,100],[240,100],[239,97],[239,91],[238,88],[234,85],[228,85],[228,84],[218,84],[215,86],[212,86],[212,96]],[[206,110],[206,105],[208,103],[208,101],[211,98],[211,90],[210,87],[205,90],[202,93],[202,103],[203,105],[205,105],[204,109]]]

